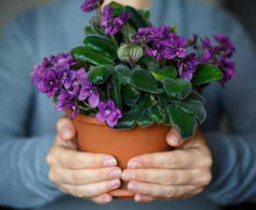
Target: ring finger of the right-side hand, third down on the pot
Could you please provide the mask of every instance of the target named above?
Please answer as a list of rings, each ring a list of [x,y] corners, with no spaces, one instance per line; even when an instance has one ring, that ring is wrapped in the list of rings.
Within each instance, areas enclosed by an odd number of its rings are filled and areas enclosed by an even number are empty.
[[[174,200],[183,196],[184,194],[196,192],[198,186],[161,186],[145,182],[132,181],[128,184],[127,188],[132,193]]]

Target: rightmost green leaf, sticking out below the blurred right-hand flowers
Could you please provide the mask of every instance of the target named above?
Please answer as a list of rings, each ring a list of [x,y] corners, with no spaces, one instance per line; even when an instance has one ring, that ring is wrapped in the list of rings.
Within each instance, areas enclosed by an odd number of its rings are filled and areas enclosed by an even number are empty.
[[[218,81],[223,78],[222,72],[217,66],[199,64],[196,68],[196,73],[193,74],[192,85],[202,85],[210,81]]]

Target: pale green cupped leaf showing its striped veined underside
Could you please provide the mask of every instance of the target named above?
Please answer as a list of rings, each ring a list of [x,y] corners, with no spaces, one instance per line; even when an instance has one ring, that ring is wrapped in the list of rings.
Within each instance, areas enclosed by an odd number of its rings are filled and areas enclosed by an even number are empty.
[[[136,62],[143,55],[143,49],[139,45],[121,45],[117,49],[117,55],[119,59],[127,63],[130,63],[132,67],[135,67]]]

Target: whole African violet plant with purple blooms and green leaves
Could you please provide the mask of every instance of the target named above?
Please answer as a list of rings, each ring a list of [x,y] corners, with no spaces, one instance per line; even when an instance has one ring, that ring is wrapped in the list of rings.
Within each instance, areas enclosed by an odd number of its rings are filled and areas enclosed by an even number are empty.
[[[32,84],[57,99],[55,109],[96,116],[110,128],[130,130],[163,123],[174,126],[182,139],[203,123],[202,89],[210,81],[221,85],[236,75],[228,37],[185,39],[177,27],[149,22],[148,10],[103,0],[86,0],[82,11],[97,11],[85,28],[83,45],[70,53],[45,58],[34,66]],[[188,53],[191,47],[196,52]]]

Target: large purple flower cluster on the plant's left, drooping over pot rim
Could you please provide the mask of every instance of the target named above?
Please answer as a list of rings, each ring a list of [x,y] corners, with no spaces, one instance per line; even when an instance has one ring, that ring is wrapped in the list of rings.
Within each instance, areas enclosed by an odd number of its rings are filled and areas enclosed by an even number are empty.
[[[122,117],[120,110],[115,108],[115,103],[112,101],[109,101],[105,107],[104,102],[99,102],[99,94],[87,80],[88,73],[85,69],[71,70],[77,62],[78,60],[75,60],[69,53],[60,53],[49,59],[45,58],[42,64],[33,67],[32,84],[47,97],[57,97],[59,101],[55,110],[73,110],[69,117],[74,119],[78,113],[78,102],[87,100],[91,108],[98,107],[97,116],[100,122],[106,120],[110,127],[114,127],[117,124],[117,118]]]

